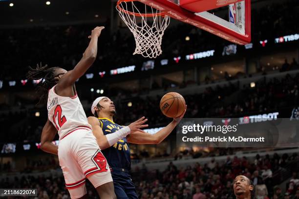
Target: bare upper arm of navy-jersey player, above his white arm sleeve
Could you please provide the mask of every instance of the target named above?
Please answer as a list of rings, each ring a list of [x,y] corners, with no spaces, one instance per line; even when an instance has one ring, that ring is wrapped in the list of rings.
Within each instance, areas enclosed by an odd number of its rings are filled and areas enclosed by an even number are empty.
[[[101,150],[109,148],[110,145],[108,143],[106,136],[103,133],[99,119],[91,116],[88,117],[87,120],[92,127],[92,133],[94,137],[96,137],[98,145],[100,146]]]

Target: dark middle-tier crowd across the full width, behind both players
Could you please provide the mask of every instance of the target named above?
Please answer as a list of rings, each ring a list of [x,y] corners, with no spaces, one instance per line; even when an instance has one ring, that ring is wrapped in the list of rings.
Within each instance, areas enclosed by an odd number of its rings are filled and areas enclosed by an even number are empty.
[[[255,82],[255,86],[228,82],[224,86],[207,87],[201,94],[185,95],[188,104],[186,118],[237,117],[244,114],[277,112],[280,109],[291,110],[298,107],[299,74],[286,75],[281,79],[266,79]],[[128,100],[111,98],[116,106],[115,122],[128,125],[136,119],[146,116],[150,126],[166,125],[170,120],[162,115],[159,104],[161,96],[132,98]],[[84,99],[81,99],[84,100]],[[90,100],[90,99],[89,99]],[[297,110],[297,109],[296,109]],[[89,108],[86,115],[89,116]],[[128,114],[128,112],[130,114]],[[43,114],[44,117],[46,116]],[[35,117],[32,112],[1,114],[0,124],[5,126],[5,134],[0,134],[1,141],[40,141],[40,134],[45,122],[44,117]],[[287,116],[289,117],[289,116]],[[295,115],[294,117],[299,117]],[[155,127],[155,126],[153,126]]]

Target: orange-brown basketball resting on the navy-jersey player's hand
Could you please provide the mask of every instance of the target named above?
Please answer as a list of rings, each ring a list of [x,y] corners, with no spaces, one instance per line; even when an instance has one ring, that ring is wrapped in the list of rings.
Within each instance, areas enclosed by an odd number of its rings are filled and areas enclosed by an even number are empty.
[[[185,108],[185,99],[179,93],[167,93],[160,101],[160,109],[162,113],[169,118],[179,117],[184,113]]]

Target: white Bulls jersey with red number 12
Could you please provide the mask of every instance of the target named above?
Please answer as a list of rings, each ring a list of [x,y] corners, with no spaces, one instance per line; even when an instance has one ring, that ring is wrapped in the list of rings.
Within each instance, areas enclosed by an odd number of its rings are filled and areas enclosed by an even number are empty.
[[[48,118],[58,130],[59,139],[78,128],[91,130],[83,106],[77,96],[62,97],[55,93],[55,86],[48,94]]]

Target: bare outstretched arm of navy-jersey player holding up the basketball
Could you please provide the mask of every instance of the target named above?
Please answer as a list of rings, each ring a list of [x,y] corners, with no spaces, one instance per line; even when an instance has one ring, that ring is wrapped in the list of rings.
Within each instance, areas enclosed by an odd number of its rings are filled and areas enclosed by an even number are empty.
[[[166,127],[161,129],[154,135],[149,134],[149,133],[143,133],[140,131],[132,132],[127,137],[128,142],[133,143],[133,144],[159,144],[159,143],[161,143],[165,138],[167,138],[167,136],[169,136],[169,134],[171,134],[171,132],[175,128],[175,126],[184,117],[186,110],[187,110],[187,106],[186,106],[184,113],[180,117],[174,118],[171,121],[171,123],[169,123]]]

